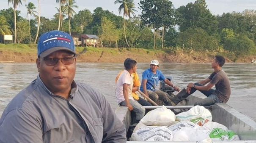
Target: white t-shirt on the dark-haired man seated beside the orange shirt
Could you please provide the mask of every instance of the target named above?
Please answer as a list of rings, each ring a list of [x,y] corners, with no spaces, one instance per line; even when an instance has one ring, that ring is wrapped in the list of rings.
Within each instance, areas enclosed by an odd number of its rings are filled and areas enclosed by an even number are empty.
[[[128,98],[134,100],[132,98],[132,86],[133,86],[132,76],[131,74],[129,74],[127,70],[124,70],[124,72],[121,73],[120,77],[116,82],[115,93],[116,93],[116,101],[118,104],[121,103],[122,101],[125,101],[124,93],[123,93],[124,83],[128,84]]]

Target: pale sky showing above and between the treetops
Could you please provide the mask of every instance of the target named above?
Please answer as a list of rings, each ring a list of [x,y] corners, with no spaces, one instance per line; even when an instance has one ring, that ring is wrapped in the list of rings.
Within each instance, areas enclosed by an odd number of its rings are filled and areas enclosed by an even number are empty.
[[[76,0],[79,8],[75,8],[74,10],[78,13],[78,11],[83,9],[88,9],[93,13],[93,10],[97,7],[102,7],[104,10],[113,11],[114,14],[119,15],[118,7],[119,5],[114,4],[115,0]],[[186,5],[187,3],[194,2],[195,0],[171,0],[175,8],[179,8],[181,5]],[[18,7],[17,10],[21,11],[21,16],[26,17],[26,8],[25,4],[32,2],[38,7],[38,0],[26,0],[26,2],[22,1],[22,5]],[[134,0],[135,6],[137,9],[136,15],[140,14],[141,11],[138,9],[138,3],[140,0]],[[41,16],[46,18],[52,18],[57,10],[55,7],[58,7],[56,0],[40,0],[41,3]],[[208,5],[208,9],[215,15],[227,13],[227,12],[242,12],[245,9],[256,9],[256,0],[206,0]],[[8,0],[0,0],[0,10],[8,9],[12,7],[10,3],[8,5]],[[38,11],[38,10],[36,10]]]

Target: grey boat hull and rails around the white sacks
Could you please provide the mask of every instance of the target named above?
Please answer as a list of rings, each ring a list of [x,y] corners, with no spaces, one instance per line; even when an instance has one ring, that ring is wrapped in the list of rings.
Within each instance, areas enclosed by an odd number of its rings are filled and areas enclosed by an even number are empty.
[[[193,107],[193,104],[196,101],[201,100],[201,98],[202,97],[198,97],[196,95],[190,95],[185,99],[185,106],[165,107],[167,107],[168,109],[190,109]],[[146,110],[151,110],[162,106],[144,107]],[[229,130],[233,130],[234,132],[236,132],[240,138],[239,141],[214,141],[214,143],[256,143],[256,122],[253,119],[238,112],[236,109],[228,106],[226,103],[215,103],[214,105],[209,106],[209,110],[212,114],[212,121],[225,125],[226,127],[228,127]],[[118,106],[115,113],[124,123],[128,132],[129,127],[132,125],[131,112],[126,106]],[[201,140],[198,140],[198,143],[200,143],[200,141]],[[167,141],[167,143],[168,142],[179,143],[179,141]],[[142,143],[142,141],[135,141],[135,143]],[[195,143],[195,141],[186,141],[186,143]]]

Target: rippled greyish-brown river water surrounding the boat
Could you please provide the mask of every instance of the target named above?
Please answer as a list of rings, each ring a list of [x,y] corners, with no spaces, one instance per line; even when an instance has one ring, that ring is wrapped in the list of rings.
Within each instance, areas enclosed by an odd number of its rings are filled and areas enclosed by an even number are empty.
[[[75,80],[94,86],[116,109],[115,78],[123,68],[123,64],[77,63]],[[138,64],[140,79],[147,68],[149,63]],[[159,69],[165,76],[172,76],[180,89],[188,82],[207,78],[213,72],[210,63],[160,63]],[[255,69],[256,64],[248,63],[226,63],[223,66],[231,83],[231,97],[227,104],[256,121]],[[37,75],[36,63],[0,63],[0,116],[11,99]],[[203,95],[198,91],[194,94]]]

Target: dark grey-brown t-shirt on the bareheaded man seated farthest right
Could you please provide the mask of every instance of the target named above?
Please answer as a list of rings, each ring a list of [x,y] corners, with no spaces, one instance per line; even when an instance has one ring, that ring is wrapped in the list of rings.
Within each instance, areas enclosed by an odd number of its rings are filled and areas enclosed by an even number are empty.
[[[208,78],[211,79],[210,83],[215,85],[216,90],[214,94],[217,95],[221,101],[227,103],[231,94],[231,88],[226,72],[221,69],[217,73],[213,72]]]

